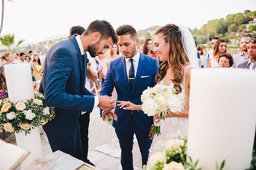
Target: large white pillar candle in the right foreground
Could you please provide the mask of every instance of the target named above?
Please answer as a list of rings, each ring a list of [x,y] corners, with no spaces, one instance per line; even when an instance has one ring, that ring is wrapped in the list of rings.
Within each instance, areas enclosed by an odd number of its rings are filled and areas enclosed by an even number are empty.
[[[188,156],[199,167],[250,167],[256,127],[256,72],[249,69],[191,71]]]

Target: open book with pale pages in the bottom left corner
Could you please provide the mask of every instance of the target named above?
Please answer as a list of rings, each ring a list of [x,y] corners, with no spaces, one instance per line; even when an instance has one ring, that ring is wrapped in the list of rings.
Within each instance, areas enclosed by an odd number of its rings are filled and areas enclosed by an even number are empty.
[[[0,140],[0,169],[12,170],[28,156],[29,152],[14,144]]]

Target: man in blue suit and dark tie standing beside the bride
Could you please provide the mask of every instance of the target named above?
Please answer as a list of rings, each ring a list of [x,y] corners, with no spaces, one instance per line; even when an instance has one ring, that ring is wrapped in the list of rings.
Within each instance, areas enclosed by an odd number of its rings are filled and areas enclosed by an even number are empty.
[[[100,94],[111,96],[115,87],[118,101],[141,104],[142,92],[156,84],[155,77],[159,63],[156,59],[141,54],[136,48],[139,38],[132,26],[120,26],[116,29],[116,33],[119,37],[120,51],[124,56],[110,63]],[[108,117],[106,114],[107,111],[102,112],[102,119]],[[118,121],[113,121],[113,126],[120,142],[122,169],[134,169],[132,163],[134,133],[140,147],[142,165],[146,164],[153,137],[152,117],[148,117],[142,111],[127,111],[118,106],[115,108],[115,114]]]

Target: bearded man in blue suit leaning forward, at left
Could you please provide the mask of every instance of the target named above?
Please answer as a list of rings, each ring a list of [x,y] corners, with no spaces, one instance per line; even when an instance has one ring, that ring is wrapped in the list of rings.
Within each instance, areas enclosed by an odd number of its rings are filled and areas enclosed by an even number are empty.
[[[95,57],[116,42],[111,24],[96,20],[81,36],[55,44],[46,54],[40,92],[45,93],[47,106],[56,108],[55,118],[43,126],[53,152],[60,150],[83,160],[78,123],[81,111],[91,113],[96,106],[106,110],[115,106],[114,99],[94,96],[85,88],[85,52]],[[109,116],[116,119],[115,114]]]

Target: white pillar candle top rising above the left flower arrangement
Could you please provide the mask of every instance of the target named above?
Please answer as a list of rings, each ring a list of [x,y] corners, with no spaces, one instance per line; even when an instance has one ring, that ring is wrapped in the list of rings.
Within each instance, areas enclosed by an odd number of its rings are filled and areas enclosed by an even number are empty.
[[[33,84],[30,64],[6,64],[7,91],[10,101],[26,101],[33,98]]]

